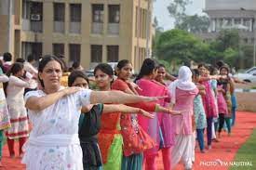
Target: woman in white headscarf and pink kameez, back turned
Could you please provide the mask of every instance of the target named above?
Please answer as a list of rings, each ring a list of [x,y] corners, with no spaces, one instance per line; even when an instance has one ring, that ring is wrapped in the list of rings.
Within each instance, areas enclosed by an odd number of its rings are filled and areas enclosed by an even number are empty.
[[[198,89],[192,82],[192,72],[186,66],[179,70],[179,77],[168,86],[173,109],[182,111],[182,115],[173,118],[175,145],[171,154],[174,168],[182,160],[185,169],[192,169],[195,161],[195,137],[192,127],[194,98]],[[210,124],[211,125],[211,124]]]

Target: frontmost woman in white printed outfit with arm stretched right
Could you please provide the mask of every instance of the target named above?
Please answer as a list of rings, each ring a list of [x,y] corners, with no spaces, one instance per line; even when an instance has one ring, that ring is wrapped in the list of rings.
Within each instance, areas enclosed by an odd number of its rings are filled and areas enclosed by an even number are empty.
[[[120,91],[96,92],[79,87],[61,87],[61,61],[44,57],[38,68],[42,90],[28,92],[26,108],[33,130],[24,146],[22,163],[28,170],[82,170],[78,138],[81,107],[89,103],[135,103],[158,98],[132,96]]]

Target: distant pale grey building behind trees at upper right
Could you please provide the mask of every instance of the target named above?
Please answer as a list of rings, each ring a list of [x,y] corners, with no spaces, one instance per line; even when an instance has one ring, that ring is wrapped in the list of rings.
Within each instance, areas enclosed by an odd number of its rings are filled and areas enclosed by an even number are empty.
[[[201,33],[204,39],[212,39],[222,29],[237,29],[243,43],[254,44],[256,37],[255,0],[206,0],[205,12],[209,16],[209,33]]]

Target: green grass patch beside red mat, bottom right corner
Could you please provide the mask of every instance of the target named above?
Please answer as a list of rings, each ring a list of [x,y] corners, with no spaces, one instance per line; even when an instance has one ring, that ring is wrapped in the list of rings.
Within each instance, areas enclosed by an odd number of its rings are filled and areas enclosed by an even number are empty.
[[[237,151],[235,162],[251,162],[252,166],[232,166],[230,170],[252,170],[256,169],[256,129],[247,142]]]

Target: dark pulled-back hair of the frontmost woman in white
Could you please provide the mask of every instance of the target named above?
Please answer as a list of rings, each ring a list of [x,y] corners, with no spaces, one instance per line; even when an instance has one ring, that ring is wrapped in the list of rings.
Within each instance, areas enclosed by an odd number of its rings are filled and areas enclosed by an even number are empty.
[[[59,64],[61,65],[61,71],[63,70],[63,66],[62,66],[62,62],[60,59],[58,59],[56,56],[53,55],[45,55],[39,62],[39,66],[38,66],[38,72],[43,72],[43,70],[45,69],[46,65],[48,62],[50,61],[57,61],[59,62]],[[45,87],[43,80],[39,77],[39,73],[38,73],[38,80],[40,81],[40,84]]]

